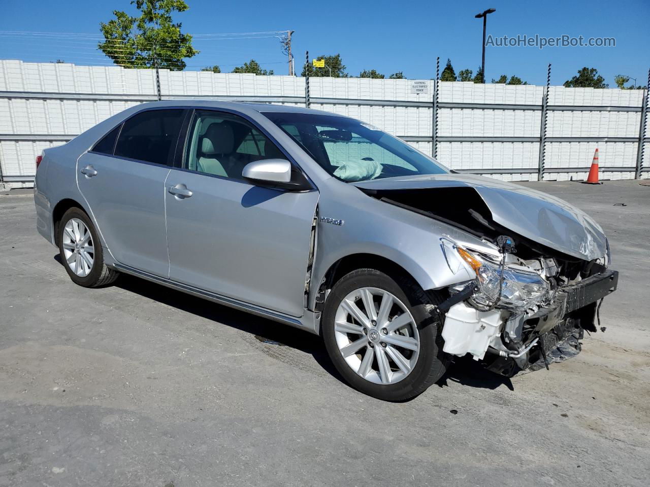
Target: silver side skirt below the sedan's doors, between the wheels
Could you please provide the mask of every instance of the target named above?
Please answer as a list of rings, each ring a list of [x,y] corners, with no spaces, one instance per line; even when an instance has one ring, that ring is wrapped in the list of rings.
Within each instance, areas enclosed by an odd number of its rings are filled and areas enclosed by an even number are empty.
[[[230,308],[235,308],[250,314],[254,314],[256,316],[261,316],[262,318],[272,319],[273,321],[278,321],[279,323],[285,323],[286,325],[300,328],[301,330],[305,330],[313,334],[318,334],[318,322],[315,313],[307,309],[304,310],[303,316],[296,318],[294,316],[267,310],[266,308],[261,308],[260,306],[250,305],[249,303],[237,301],[237,299],[232,299],[230,297],[203,291],[199,288],[195,288],[194,286],[188,286],[187,284],[181,284],[180,282],[170,281],[164,277],[159,277],[157,275],[139,271],[138,269],[123,266],[122,264],[113,264],[110,267],[125,274],[140,277],[142,279],[146,279],[147,281],[155,282],[156,284],[162,284],[162,286],[166,286],[177,291],[191,294],[202,299],[207,299],[208,301],[218,303],[219,305],[229,306]]]

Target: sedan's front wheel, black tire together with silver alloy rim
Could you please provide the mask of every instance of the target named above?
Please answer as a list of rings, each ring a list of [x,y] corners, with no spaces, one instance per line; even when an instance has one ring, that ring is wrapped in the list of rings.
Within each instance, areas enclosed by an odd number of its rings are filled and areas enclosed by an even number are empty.
[[[335,367],[357,390],[385,401],[424,392],[447,369],[437,297],[406,277],[358,269],[333,286],[322,333]]]

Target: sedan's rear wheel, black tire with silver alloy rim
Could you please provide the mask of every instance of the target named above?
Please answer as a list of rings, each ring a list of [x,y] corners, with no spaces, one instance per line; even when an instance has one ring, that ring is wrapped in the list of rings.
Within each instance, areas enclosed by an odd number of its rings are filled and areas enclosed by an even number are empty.
[[[104,264],[98,233],[81,208],[70,208],[58,227],[59,255],[70,279],[85,288],[108,286],[120,274]]]

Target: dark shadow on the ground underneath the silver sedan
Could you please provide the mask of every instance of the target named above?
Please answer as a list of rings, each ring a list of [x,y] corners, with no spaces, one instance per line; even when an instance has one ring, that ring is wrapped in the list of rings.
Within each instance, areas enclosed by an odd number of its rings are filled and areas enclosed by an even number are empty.
[[[59,254],[55,255],[54,259],[63,266]],[[261,318],[234,308],[229,308],[228,306],[218,305],[212,301],[207,301],[207,299],[192,296],[162,286],[162,284],[144,281],[139,277],[127,274],[120,275],[120,279],[114,285],[125,291],[153,299],[159,303],[164,303],[165,305],[194,314],[195,316],[210,319],[216,323],[246,332],[269,346],[292,347],[293,349],[307,353],[313,356],[315,362],[324,371],[347,385],[347,382],[331,362],[321,338],[315,334],[289,325],[276,323],[270,319]],[[438,387],[443,388],[449,386],[449,382],[456,382],[463,386],[482,389],[497,389],[501,386],[506,386],[509,390],[514,390],[512,381],[508,377],[482,368],[480,364],[477,364],[469,357],[454,358],[454,363],[436,384]]]

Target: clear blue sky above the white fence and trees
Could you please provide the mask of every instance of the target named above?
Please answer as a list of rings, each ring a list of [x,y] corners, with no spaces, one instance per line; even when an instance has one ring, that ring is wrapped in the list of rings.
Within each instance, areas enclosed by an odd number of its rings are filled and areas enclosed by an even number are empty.
[[[210,1],[185,0],[189,10],[175,14],[183,31],[196,35],[201,53],[186,60],[187,69],[218,64],[222,71],[252,58],[276,74],[287,74],[287,57],[272,34],[233,39],[200,38],[201,34],[295,31],[292,48],[300,74],[310,58],[340,53],[350,75],[376,69],[388,76],[403,71],[410,79],[435,77],[435,58],[441,69],[450,58],[456,73],[481,63],[482,20],[478,12],[496,8],[487,18],[493,38],[613,37],[616,47],[486,47],[486,79],[517,75],[530,84],[545,84],[552,63],[551,84],[562,84],[583,66],[597,68],[610,88],[614,76],[624,74],[647,83],[650,68],[650,0],[613,1],[387,1],[328,0]],[[623,5],[623,6],[621,6]],[[112,10],[135,12],[129,0],[53,2],[4,0],[0,16],[0,58],[47,62],[62,59],[75,64],[109,64],[95,49],[99,22]],[[38,34],[6,34],[6,31]],[[57,37],[42,34],[60,32]],[[73,34],[91,34],[77,36]],[[97,36],[97,37],[95,37]],[[631,83],[631,82],[630,82]]]

